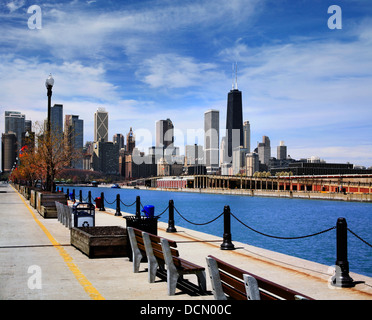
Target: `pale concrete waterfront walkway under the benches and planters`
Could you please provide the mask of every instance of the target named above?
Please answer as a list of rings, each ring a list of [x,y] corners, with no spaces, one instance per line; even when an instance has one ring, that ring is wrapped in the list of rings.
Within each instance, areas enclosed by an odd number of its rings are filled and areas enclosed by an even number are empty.
[[[123,213],[125,215],[125,213]],[[96,211],[97,226],[123,226],[114,212]],[[181,256],[205,266],[214,255],[232,265],[320,300],[372,300],[372,278],[350,273],[354,288],[328,284],[329,266],[234,242],[236,250],[221,251],[222,239],[176,226],[158,234],[178,242]],[[70,231],[57,219],[43,219],[11,186],[0,184],[0,299],[32,300],[213,300],[213,295],[191,296],[177,289],[167,295],[165,281],[147,281],[147,265],[133,273],[128,258],[89,259],[70,245]],[[196,283],[195,276],[188,279]],[[211,285],[207,271],[207,288]]]

